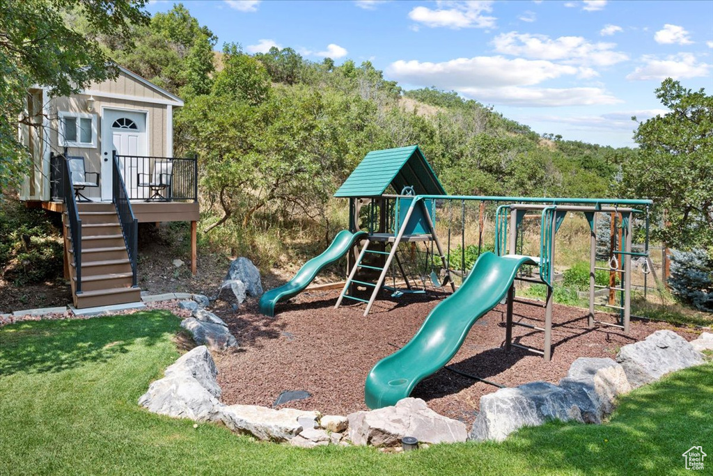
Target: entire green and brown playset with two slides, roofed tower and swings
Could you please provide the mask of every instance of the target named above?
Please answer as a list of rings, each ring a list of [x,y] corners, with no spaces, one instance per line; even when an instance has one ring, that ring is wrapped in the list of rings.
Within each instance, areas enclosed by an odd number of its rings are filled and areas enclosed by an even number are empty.
[[[413,253],[419,246],[425,249],[433,286],[451,293],[431,310],[411,341],[371,369],[365,386],[365,400],[369,408],[394,405],[396,401],[409,396],[417,383],[451,361],[473,324],[503,300],[507,304],[506,351],[511,347],[523,348],[540,354],[546,362],[550,361],[555,235],[568,213],[584,214],[590,227],[588,325],[612,326],[624,333],[629,332],[632,257],[648,259],[647,247],[644,252],[633,251],[632,223],[637,214],[648,219],[648,208],[652,204],[650,200],[447,195],[417,145],[369,152],[334,196],[349,199],[349,229],[339,232],[327,250],[307,262],[294,279],[263,295],[260,300],[260,311],[263,314],[274,316],[279,301],[295,296],[307,288],[321,269],[347,257],[347,279],[334,306],[342,306],[345,300],[364,305],[364,319],[369,319],[369,311],[384,293],[394,297],[416,291],[414,279],[410,280],[413,276],[409,276],[404,267],[403,255]],[[457,253],[453,247],[457,242],[463,254],[466,244],[466,204],[478,204],[481,212],[478,225],[479,256],[470,269],[466,269],[465,259],[461,257],[461,267],[458,269],[453,266],[453,262],[457,262]],[[483,247],[482,216],[486,207],[495,212],[493,249]],[[452,229],[453,209],[460,209],[462,217],[462,226],[456,232]],[[439,214],[448,217],[445,220],[448,225],[445,242],[436,232]],[[610,250],[608,267],[597,266],[595,258],[597,214],[611,215],[620,229],[621,239]],[[521,242],[525,219],[539,220],[538,256],[518,253],[518,237]],[[458,231],[460,237],[457,236]],[[528,267],[530,272],[523,273],[523,267]],[[597,285],[597,269],[616,274],[620,284],[617,285],[615,280],[609,286]],[[387,281],[389,274],[394,276],[391,285]],[[424,274],[429,274],[428,269]],[[405,288],[396,287],[395,276],[399,276]],[[423,288],[427,280],[422,278]],[[516,298],[517,280],[547,286],[545,301]],[[618,294],[614,304],[605,304],[605,307],[615,311],[615,321],[595,319],[594,294],[596,289],[601,288]],[[358,296],[357,289],[367,289],[369,299]],[[418,291],[423,292],[424,289]],[[514,303],[544,308],[543,325],[514,321]],[[513,342],[514,326],[540,331],[543,334],[543,346],[536,348]],[[475,376],[473,378],[483,381]]]

